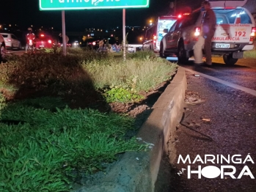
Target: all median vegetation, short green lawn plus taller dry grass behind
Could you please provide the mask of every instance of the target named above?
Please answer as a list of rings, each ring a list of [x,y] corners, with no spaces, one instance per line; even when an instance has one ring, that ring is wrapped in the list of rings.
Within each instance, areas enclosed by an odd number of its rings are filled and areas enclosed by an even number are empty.
[[[69,191],[117,154],[147,150],[125,136],[135,119],[70,108],[73,100],[65,97],[89,100],[93,90],[106,103],[139,102],[140,92],[167,81],[176,68],[150,52],[126,62],[82,49],[65,57],[51,51],[10,57],[0,66],[0,191]]]

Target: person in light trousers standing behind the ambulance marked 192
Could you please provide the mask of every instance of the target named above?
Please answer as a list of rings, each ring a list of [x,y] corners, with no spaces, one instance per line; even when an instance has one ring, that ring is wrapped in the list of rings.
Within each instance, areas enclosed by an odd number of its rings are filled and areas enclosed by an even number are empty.
[[[209,1],[203,1],[202,7],[205,9],[205,17],[202,21],[202,34],[194,45],[194,63],[202,63],[202,46],[204,46],[206,65],[211,66],[211,40],[216,30],[216,15]]]

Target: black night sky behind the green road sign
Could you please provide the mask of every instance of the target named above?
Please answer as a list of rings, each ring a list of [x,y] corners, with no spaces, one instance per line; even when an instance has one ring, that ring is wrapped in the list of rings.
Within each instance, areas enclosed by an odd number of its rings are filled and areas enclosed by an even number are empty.
[[[143,26],[151,18],[169,12],[169,0],[150,0],[149,8],[126,10],[126,26]],[[122,9],[65,11],[68,31],[90,27],[107,29],[122,27]],[[39,0],[1,0],[0,23],[18,26],[62,28],[61,11],[40,11]]]

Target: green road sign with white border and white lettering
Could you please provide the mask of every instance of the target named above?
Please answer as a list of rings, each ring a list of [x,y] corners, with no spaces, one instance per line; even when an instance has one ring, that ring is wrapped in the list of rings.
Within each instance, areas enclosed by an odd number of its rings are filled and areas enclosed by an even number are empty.
[[[127,9],[149,7],[150,0],[39,0],[40,10]]]

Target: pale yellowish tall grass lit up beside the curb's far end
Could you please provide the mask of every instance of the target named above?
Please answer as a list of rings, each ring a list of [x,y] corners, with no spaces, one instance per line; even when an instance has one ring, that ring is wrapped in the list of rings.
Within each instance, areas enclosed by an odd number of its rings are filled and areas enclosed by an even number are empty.
[[[108,62],[108,63],[107,63]],[[136,77],[136,91],[147,91],[167,81],[172,73],[175,73],[177,65],[166,59],[150,58],[143,59],[111,59],[105,64],[92,61],[83,67],[89,72],[96,88],[107,85],[127,85]]]

